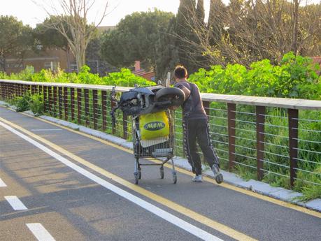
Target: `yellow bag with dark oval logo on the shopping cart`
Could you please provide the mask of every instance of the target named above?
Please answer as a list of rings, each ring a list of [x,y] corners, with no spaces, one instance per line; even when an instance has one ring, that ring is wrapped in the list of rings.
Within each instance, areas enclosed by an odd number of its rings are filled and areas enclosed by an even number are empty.
[[[165,111],[141,115],[139,129],[141,129],[141,140],[169,136],[169,118]]]

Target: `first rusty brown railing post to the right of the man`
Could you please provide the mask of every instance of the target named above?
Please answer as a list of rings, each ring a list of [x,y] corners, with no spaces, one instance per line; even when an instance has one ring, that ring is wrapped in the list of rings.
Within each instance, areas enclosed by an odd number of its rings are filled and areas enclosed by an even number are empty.
[[[229,131],[229,171],[235,163],[236,104],[227,103],[227,125]]]

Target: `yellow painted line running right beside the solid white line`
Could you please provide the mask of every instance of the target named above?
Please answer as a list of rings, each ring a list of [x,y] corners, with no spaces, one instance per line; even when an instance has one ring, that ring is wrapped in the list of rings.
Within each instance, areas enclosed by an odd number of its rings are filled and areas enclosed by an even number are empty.
[[[211,227],[211,228],[219,231],[220,233],[224,233],[225,235],[228,235],[229,237],[234,238],[235,240],[255,240],[248,235],[238,232],[232,228],[229,228],[228,226],[225,226],[224,224],[220,224],[217,221],[213,221],[212,219],[209,219],[208,217],[205,217],[204,215],[194,212],[193,210],[190,210],[187,207],[179,205],[178,203],[174,203],[173,201],[171,201],[169,199],[166,199],[162,196],[152,193],[151,191],[143,189],[142,187],[132,184],[131,182],[128,182],[127,180],[124,180],[121,177],[114,175],[113,173],[109,173],[108,171],[104,170],[103,168],[100,168],[99,166],[96,166],[96,165],[90,163],[89,161],[86,161],[85,159],[82,159],[79,156],[76,156],[75,154],[68,152],[66,149],[63,149],[62,147],[59,147],[58,145],[55,145],[54,143],[51,143],[50,141],[45,140],[44,138],[41,138],[40,136],[37,136],[34,133],[27,131],[26,129],[23,129],[21,126],[17,126],[16,124],[13,124],[12,122],[9,122],[6,119],[3,119],[1,117],[0,117],[0,121],[8,124],[9,126],[12,126],[13,128],[15,128],[19,131],[22,131],[23,133],[26,133],[27,135],[31,136],[32,138],[34,138],[36,140],[41,141],[41,143],[48,145],[48,147],[51,147],[52,149],[55,149],[58,152],[61,152],[62,154],[69,156],[69,158],[73,159],[74,161],[77,161],[78,163],[83,164],[84,166],[87,166],[88,168],[90,168],[92,170],[95,170],[97,173],[100,173],[101,175],[104,175],[105,177],[108,177],[108,178],[112,179],[113,181],[115,181],[119,184],[122,184],[124,187],[127,187],[133,191],[136,191],[137,193],[140,193],[141,195],[143,195],[147,198],[150,198],[151,200],[154,200],[155,202],[157,202],[161,205],[169,207],[171,210],[179,212],[180,214],[184,214],[186,217],[189,217],[190,219],[194,219],[195,221],[198,221],[201,224]]]

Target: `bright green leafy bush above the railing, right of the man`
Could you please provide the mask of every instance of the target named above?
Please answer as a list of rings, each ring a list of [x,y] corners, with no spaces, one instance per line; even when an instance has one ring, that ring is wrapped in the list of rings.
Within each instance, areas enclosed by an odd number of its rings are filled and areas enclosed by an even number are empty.
[[[279,66],[268,59],[254,62],[247,69],[240,64],[200,68],[190,75],[201,92],[282,98],[321,99],[320,67],[311,58],[285,54]]]

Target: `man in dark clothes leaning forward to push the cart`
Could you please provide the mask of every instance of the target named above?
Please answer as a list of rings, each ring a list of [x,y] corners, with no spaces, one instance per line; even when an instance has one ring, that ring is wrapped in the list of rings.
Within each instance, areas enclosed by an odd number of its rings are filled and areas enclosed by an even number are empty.
[[[176,80],[174,87],[182,89],[185,94],[185,101],[182,105],[184,149],[195,174],[192,181],[203,182],[201,158],[197,153],[198,143],[204,159],[213,170],[216,182],[220,184],[223,182],[223,175],[220,173],[219,159],[211,142],[208,117],[201,101],[199,87],[187,81],[187,70],[184,66],[176,66],[174,77]]]

